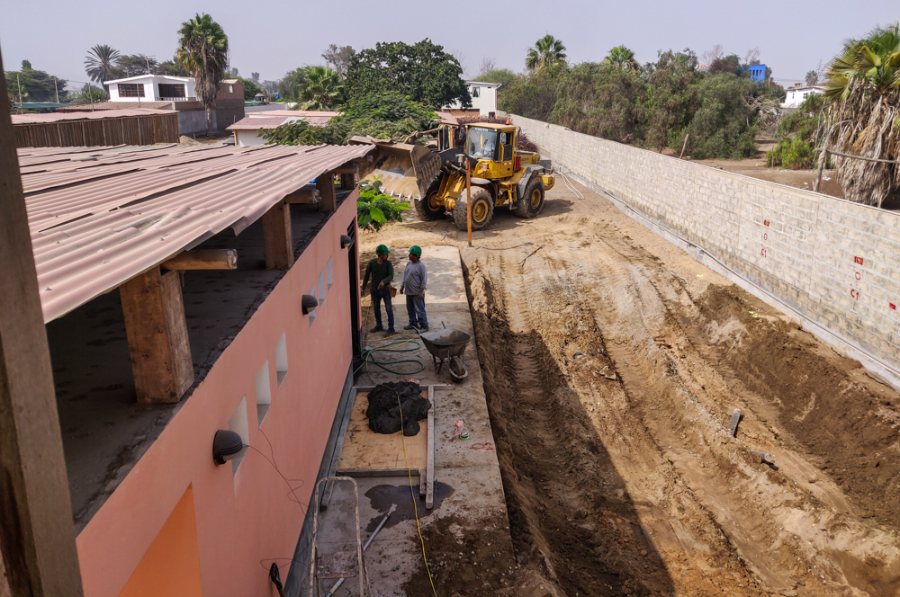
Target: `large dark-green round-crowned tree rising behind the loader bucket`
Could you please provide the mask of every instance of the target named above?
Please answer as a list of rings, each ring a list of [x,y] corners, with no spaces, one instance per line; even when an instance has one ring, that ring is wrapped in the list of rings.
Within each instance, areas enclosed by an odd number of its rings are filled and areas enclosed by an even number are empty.
[[[380,94],[386,89],[432,108],[455,102],[466,108],[472,106],[463,67],[443,46],[428,39],[411,46],[402,41],[377,43],[351,58],[347,67],[349,98]]]

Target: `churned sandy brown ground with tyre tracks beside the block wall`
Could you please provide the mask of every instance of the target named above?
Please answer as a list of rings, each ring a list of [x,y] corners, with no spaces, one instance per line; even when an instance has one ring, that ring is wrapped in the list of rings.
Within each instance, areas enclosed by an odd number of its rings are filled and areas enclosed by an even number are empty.
[[[364,263],[454,245],[465,266],[515,562],[427,526],[445,579],[482,565],[439,594],[900,593],[900,396],[581,191],[500,209],[473,248],[411,213],[361,236]]]

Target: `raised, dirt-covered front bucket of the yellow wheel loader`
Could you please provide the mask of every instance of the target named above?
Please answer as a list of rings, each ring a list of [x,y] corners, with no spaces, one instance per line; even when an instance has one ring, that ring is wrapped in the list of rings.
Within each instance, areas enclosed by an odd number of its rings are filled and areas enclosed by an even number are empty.
[[[392,197],[421,199],[440,172],[441,159],[428,147],[371,137],[354,137],[349,144],[375,146],[372,161],[360,167],[360,182],[379,180]]]

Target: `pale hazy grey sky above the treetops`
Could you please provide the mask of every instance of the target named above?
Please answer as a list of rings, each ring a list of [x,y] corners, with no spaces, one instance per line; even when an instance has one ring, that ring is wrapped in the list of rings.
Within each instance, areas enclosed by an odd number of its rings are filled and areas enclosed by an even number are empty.
[[[462,55],[468,76],[478,73],[485,57],[518,72],[527,48],[549,32],[563,40],[572,62],[601,60],[619,44],[635,50],[641,63],[655,60],[659,49],[690,48],[699,55],[718,43],[743,57],[758,47],[761,61],[784,85],[832,58],[842,40],[869,31],[877,15],[900,16],[896,0],[873,0],[865,10],[847,6],[835,0],[2,0],[0,49],[6,69],[18,69],[27,58],[51,75],[85,81],[85,53],[95,44],[166,60],[174,54],[180,23],[208,12],[229,36],[232,66],[264,80],[321,63],[330,43],[358,50],[376,41],[426,37]]]

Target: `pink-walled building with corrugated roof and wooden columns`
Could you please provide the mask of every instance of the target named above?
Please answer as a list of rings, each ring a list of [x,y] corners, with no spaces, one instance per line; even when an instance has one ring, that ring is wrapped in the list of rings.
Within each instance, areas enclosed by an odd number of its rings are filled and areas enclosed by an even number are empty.
[[[270,595],[304,556],[359,346],[334,176],[369,149],[19,151],[88,597]]]

